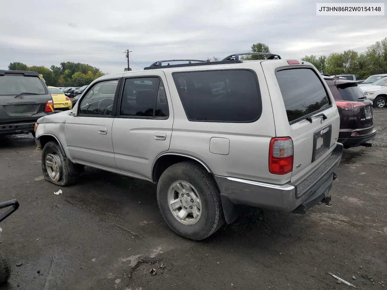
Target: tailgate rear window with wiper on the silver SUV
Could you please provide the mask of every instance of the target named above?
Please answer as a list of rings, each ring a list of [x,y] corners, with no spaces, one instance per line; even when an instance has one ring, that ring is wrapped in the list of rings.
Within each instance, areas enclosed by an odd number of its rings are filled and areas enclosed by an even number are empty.
[[[280,70],[276,76],[289,123],[330,106],[327,91],[312,69]]]

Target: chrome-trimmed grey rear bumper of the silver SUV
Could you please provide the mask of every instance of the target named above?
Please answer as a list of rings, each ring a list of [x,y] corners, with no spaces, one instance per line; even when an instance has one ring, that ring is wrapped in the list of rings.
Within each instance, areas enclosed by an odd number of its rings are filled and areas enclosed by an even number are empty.
[[[228,211],[233,205],[249,205],[282,212],[305,213],[322,200],[330,200],[332,181],[336,179],[337,166],[343,145],[337,143],[332,155],[315,171],[298,184],[282,185],[260,183],[233,177],[215,176],[221,191],[221,200],[227,222],[233,219]],[[231,218],[230,218],[231,217]]]

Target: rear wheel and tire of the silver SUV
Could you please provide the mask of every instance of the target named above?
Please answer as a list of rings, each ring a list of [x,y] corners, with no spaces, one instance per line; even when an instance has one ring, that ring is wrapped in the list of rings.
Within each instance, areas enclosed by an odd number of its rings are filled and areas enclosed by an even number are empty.
[[[224,223],[219,189],[195,162],[171,165],[161,174],[157,201],[168,226],[194,241],[209,237]]]

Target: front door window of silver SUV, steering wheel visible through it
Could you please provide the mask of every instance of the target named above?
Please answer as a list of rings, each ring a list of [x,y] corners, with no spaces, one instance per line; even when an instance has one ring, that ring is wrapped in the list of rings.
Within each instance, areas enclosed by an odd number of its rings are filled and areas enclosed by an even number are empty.
[[[95,84],[79,104],[80,115],[111,116],[118,80]]]

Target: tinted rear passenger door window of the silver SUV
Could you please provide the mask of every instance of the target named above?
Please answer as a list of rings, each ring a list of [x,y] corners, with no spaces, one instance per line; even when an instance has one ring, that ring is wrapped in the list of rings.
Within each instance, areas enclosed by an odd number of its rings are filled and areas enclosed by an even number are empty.
[[[163,81],[158,77],[126,79],[120,115],[168,117],[168,102]]]

